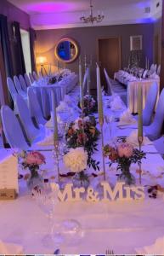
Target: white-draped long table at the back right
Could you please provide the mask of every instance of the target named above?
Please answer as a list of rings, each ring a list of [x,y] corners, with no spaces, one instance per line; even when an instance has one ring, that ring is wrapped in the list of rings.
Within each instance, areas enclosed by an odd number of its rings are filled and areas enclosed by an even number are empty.
[[[147,97],[148,91],[150,90],[151,84],[156,83],[160,88],[159,79],[141,79],[140,80],[140,79],[136,79],[135,77],[128,79],[124,77],[124,75],[121,72],[115,73],[115,79],[127,86],[127,107],[130,109],[131,113],[138,113],[139,85],[142,86],[143,108],[145,106],[146,97]]]

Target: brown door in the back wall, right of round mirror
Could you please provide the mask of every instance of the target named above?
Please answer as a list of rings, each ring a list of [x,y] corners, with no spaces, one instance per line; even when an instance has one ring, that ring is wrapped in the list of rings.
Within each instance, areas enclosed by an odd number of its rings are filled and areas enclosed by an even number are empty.
[[[101,73],[101,84],[107,88],[104,68],[113,79],[114,73],[121,68],[121,40],[120,38],[99,39],[99,66]]]

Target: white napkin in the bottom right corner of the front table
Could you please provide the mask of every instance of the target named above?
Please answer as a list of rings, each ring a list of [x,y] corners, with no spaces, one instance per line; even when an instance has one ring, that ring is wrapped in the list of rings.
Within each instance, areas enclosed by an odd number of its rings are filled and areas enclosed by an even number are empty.
[[[135,251],[141,254],[151,254],[151,255],[162,255],[164,254],[164,236],[156,239],[155,243],[150,246],[145,246],[143,248],[136,248]]]

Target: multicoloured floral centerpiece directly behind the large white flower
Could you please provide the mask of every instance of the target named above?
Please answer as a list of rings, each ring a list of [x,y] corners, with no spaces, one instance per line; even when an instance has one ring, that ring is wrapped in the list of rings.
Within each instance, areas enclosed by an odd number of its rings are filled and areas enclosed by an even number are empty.
[[[68,148],[84,147],[88,152],[88,166],[93,166],[94,170],[99,169],[99,162],[92,158],[93,151],[97,150],[96,142],[99,134],[99,130],[95,127],[95,119],[89,117],[76,119],[65,134]]]

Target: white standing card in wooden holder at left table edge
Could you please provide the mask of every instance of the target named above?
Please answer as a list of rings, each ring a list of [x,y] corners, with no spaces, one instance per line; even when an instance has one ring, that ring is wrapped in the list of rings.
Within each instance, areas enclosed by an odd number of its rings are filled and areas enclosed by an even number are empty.
[[[18,161],[14,149],[0,149],[0,199],[14,199],[18,192]]]

